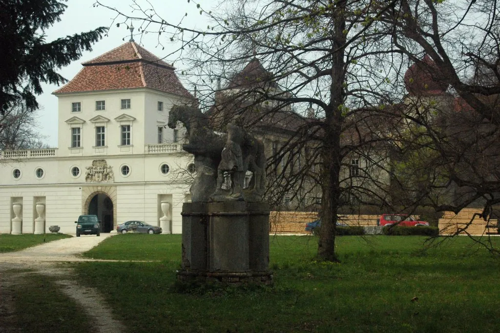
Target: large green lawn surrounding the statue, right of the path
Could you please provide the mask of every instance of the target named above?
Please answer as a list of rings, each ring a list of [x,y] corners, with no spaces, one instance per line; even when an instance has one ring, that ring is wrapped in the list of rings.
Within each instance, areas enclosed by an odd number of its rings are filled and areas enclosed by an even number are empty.
[[[333,264],[313,259],[313,236],[273,236],[272,287],[177,284],[180,235],[117,235],[86,254],[157,262],[74,267],[129,332],[497,332],[498,259],[465,237],[424,240],[338,237]]]

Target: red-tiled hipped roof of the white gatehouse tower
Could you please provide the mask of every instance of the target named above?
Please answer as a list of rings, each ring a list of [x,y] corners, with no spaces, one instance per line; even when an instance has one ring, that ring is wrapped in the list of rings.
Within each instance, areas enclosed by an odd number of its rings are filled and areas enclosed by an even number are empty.
[[[193,98],[182,86],[171,65],[135,42],[127,42],[82,65],[78,74],[54,94],[151,88]]]

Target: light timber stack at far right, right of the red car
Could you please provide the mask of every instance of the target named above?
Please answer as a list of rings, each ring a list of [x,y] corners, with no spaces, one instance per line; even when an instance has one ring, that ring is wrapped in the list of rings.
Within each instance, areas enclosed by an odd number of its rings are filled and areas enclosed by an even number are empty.
[[[485,235],[486,232],[496,231],[496,229],[488,230],[486,225],[487,221],[484,221],[479,216],[474,216],[474,213],[482,213],[481,209],[476,208],[464,208],[455,214],[453,212],[444,212],[443,217],[439,219],[439,233],[442,235],[452,235],[458,230],[466,227],[465,231],[460,231],[459,234],[471,234],[471,235]],[[473,217],[473,219],[472,219]],[[489,224],[496,225],[496,220],[489,220]]]

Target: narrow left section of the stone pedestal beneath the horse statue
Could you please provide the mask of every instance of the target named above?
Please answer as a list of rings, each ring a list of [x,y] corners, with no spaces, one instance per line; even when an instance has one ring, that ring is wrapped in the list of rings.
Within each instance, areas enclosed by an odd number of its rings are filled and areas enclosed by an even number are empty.
[[[206,202],[182,204],[182,269],[201,270],[207,268]]]

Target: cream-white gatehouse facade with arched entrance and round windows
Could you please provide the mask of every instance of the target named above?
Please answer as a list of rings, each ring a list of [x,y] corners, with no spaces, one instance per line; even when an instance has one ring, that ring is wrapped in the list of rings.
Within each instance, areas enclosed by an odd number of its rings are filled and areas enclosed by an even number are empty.
[[[0,233],[18,233],[15,203],[21,233],[35,232],[36,203],[43,203],[44,231],[58,225],[71,234],[80,214],[96,214],[101,232],[128,220],[159,226],[161,201],[170,203],[171,232],[181,233],[189,184],[179,170],[190,161],[165,125],[170,107],[185,98],[147,87],[56,96],[58,148],[1,153]]]

